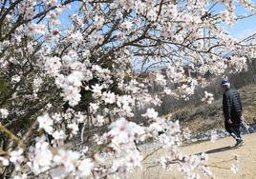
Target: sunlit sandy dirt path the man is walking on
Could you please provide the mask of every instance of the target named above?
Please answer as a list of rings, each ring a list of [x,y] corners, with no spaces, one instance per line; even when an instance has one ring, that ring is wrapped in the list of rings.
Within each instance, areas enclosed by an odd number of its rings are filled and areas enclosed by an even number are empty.
[[[213,171],[216,179],[256,179],[256,133],[243,136],[245,145],[238,149],[230,149],[229,146],[234,145],[234,140],[231,137],[226,137],[217,140],[215,143],[203,142],[190,145],[182,149],[183,153],[196,154],[207,152],[209,154],[208,164]],[[150,152],[150,151],[149,151]],[[234,155],[239,156],[240,170],[234,174],[230,167],[234,163]],[[152,159],[160,158],[166,155],[164,149],[160,149],[154,155],[146,159],[145,163],[149,163]],[[133,172],[129,178],[132,179],[176,179],[182,178],[181,174],[176,169],[166,170],[159,167],[149,169],[138,169]],[[208,178],[201,175],[201,178]]]

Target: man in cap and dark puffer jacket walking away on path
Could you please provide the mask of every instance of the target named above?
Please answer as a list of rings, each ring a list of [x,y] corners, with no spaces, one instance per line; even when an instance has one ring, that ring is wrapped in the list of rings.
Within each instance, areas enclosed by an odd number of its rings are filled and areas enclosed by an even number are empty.
[[[228,80],[222,80],[223,110],[224,110],[224,128],[236,140],[235,147],[242,146],[244,140],[240,133],[242,123],[242,103],[240,94],[235,89],[230,89]]]

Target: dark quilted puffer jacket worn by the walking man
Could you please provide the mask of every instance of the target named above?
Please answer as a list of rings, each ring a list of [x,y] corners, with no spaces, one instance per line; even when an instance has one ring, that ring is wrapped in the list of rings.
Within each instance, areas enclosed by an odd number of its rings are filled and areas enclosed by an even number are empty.
[[[235,89],[226,89],[223,96],[224,119],[231,119],[234,124],[240,123],[242,103],[240,94]]]

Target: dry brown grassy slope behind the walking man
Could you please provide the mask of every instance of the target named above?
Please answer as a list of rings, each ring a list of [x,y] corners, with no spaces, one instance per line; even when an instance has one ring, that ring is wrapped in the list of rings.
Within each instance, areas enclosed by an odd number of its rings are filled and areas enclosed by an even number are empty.
[[[243,103],[243,115],[248,124],[256,123],[256,85],[249,85],[239,89]],[[172,117],[180,120],[181,127],[189,128],[193,133],[209,129],[224,129],[222,99],[210,105],[189,107],[175,112]]]

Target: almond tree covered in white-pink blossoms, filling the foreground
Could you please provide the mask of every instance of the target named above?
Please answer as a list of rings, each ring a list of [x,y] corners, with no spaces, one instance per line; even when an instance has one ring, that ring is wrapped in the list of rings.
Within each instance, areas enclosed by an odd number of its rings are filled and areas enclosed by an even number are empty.
[[[212,10],[219,4],[224,10]],[[158,106],[166,94],[192,95],[201,81],[185,75],[184,64],[201,75],[245,70],[246,60],[255,57],[255,34],[237,40],[226,27],[246,18],[236,15],[237,6],[253,14],[253,4],[2,0],[0,5],[1,177],[122,178],[143,166],[138,146],[148,138],[169,150],[160,163],[164,168],[175,164],[184,178],[199,177],[195,169],[211,175],[206,155],[181,153],[178,121],[147,109],[139,124],[135,109]],[[166,75],[141,77],[160,63]],[[167,80],[175,88],[168,88]],[[152,94],[154,81],[162,90]]]

